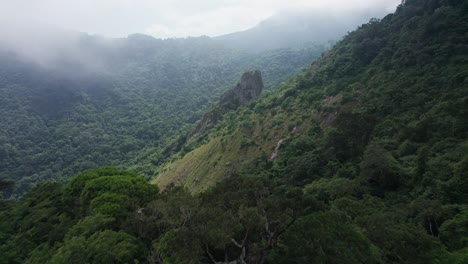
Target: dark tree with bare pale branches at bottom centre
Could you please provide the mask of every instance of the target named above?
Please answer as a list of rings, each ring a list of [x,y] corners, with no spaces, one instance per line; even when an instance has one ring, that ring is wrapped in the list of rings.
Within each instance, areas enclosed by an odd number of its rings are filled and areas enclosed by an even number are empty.
[[[164,195],[176,195],[171,200],[178,205],[174,198],[181,197],[179,190]],[[164,261],[262,262],[300,215],[320,208],[298,189],[257,177],[231,177],[199,199],[190,213],[181,212],[184,221],[176,219],[173,229],[154,242]],[[312,208],[305,209],[306,204]]]

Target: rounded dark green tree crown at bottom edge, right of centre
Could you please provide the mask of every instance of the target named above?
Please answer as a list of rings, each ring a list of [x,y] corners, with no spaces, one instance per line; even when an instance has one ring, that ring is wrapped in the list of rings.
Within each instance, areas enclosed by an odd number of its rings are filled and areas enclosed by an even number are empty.
[[[273,263],[380,263],[377,249],[364,233],[336,212],[307,215],[288,231]]]

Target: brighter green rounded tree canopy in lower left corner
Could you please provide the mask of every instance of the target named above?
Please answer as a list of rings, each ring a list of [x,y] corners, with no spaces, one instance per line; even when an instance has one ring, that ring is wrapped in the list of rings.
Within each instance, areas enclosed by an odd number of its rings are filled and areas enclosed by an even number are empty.
[[[77,175],[62,187],[39,184],[0,211],[5,263],[131,263],[143,243],[129,233],[135,209],[158,197],[158,188],[112,167]],[[82,200],[76,199],[84,197]],[[77,212],[74,213],[76,209]],[[7,224],[8,223],[8,224]],[[124,231],[113,231],[113,230]],[[128,232],[128,233],[127,233]]]

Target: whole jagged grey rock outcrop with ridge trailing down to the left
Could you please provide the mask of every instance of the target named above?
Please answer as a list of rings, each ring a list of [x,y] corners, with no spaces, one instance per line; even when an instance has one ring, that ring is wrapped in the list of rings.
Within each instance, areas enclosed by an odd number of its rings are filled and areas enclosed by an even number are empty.
[[[242,74],[240,82],[221,96],[218,104],[203,116],[203,119],[189,136],[206,131],[208,127],[216,124],[224,113],[257,98],[262,93],[263,88],[262,73],[260,71],[245,72]]]

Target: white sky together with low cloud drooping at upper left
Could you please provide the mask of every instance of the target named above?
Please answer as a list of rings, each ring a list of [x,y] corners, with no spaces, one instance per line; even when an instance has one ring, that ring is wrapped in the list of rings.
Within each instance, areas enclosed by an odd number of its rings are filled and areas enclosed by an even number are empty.
[[[285,10],[391,12],[401,0],[15,0],[0,9],[0,49],[45,67],[71,63],[97,71],[99,56],[83,48],[87,34],[156,38],[219,36],[241,31]],[[371,13],[372,13],[371,12]],[[80,33],[85,32],[85,33]],[[93,38],[107,45],[105,38]],[[98,46],[99,46],[98,45]],[[104,46],[106,47],[106,46]],[[104,50],[106,50],[104,48]]]

